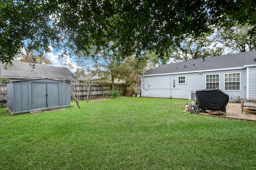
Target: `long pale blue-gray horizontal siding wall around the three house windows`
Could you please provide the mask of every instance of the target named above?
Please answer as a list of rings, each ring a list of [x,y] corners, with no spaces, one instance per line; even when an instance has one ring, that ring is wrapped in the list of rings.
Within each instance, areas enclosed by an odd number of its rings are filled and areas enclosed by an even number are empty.
[[[256,71],[256,70],[254,70]],[[240,73],[240,90],[224,90],[224,76],[230,73]],[[237,70],[218,70],[210,72],[184,73],[184,74],[170,74],[170,75],[156,75],[156,76],[142,76],[142,97],[157,97],[157,98],[177,98],[189,99],[190,93],[206,88],[206,75],[219,74],[220,90],[233,98],[238,98],[246,94],[244,87],[246,86],[246,69]],[[254,73],[255,75],[255,73]],[[179,84],[178,77],[186,76],[186,83]],[[254,77],[255,78],[255,77]],[[173,80],[175,80],[175,87],[173,87]],[[256,78],[255,78],[256,81]],[[146,90],[145,85],[148,84]],[[171,88],[170,88],[171,87]]]

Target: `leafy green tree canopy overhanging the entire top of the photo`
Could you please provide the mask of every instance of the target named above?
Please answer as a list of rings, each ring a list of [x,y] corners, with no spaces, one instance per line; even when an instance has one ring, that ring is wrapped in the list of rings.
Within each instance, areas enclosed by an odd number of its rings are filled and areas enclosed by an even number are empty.
[[[108,46],[122,56],[156,49],[164,53],[182,35],[196,37],[209,25],[237,21],[256,30],[252,0],[2,0],[0,2],[0,58],[10,63],[25,40],[30,49],[47,51],[48,45],[68,51],[88,45]],[[232,23],[232,22],[231,22]],[[59,47],[59,41],[66,45]],[[52,44],[51,44],[52,43]]]

